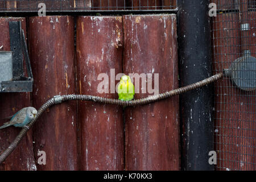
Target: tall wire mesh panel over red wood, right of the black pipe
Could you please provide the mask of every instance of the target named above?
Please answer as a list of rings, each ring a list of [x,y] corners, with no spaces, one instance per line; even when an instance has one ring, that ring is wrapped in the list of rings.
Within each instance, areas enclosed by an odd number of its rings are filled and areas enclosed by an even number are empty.
[[[256,1],[221,0],[212,18],[213,74],[229,68],[245,49],[256,57]],[[249,23],[242,31],[241,24]],[[254,72],[256,68],[253,68]],[[255,79],[255,78],[251,78]],[[217,170],[256,170],[255,90],[243,91],[225,77],[215,84],[214,147]]]

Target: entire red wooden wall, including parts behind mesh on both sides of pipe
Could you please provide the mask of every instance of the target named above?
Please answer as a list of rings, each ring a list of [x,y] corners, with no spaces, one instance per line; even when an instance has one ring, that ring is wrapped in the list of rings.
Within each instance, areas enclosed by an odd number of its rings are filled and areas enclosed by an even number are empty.
[[[139,6],[138,1],[133,0],[126,1],[126,5],[123,5],[123,1],[118,1],[118,4],[115,0],[102,2],[67,0],[61,1],[59,6],[57,1],[48,1],[46,6],[51,10],[59,7],[64,10],[85,7],[99,10],[100,6],[110,6],[109,10],[113,10],[116,6]],[[217,3],[218,9],[237,8],[235,0],[212,2]],[[26,9],[28,3],[29,7],[37,8],[37,3],[31,1],[1,1],[0,8],[29,10]],[[147,5],[175,7],[176,1],[141,1],[140,6]],[[254,12],[248,13],[251,29],[247,35],[251,39],[247,44],[253,53],[256,42],[255,16]],[[21,20],[25,32],[28,27],[34,92],[1,93],[0,118],[8,117],[25,106],[39,108],[56,94],[81,93],[117,98],[117,94],[96,92],[96,85],[100,82],[97,74],[103,72],[110,77],[110,68],[115,68],[115,73],[152,73],[154,68],[154,72],[163,73],[159,76],[160,92],[177,88],[176,34],[171,34],[171,28],[176,32],[173,15],[79,16],[77,20],[72,16],[0,18],[0,47],[3,46],[5,51],[10,51],[10,20]],[[228,68],[232,61],[241,56],[239,29],[238,13],[222,13],[213,18],[213,73]],[[153,51],[155,57],[152,56]],[[256,126],[255,122],[250,121],[256,120],[255,91],[243,92],[234,87],[228,78],[216,82],[215,89],[217,169],[254,170]],[[135,98],[146,96],[141,93],[136,94]],[[173,97],[150,105],[126,107],[124,110],[119,106],[80,101],[53,106],[40,117],[6,161],[0,164],[0,169],[179,169],[178,104],[178,97]],[[0,154],[19,130],[9,127],[0,131]],[[47,154],[45,166],[37,163],[40,150]]]

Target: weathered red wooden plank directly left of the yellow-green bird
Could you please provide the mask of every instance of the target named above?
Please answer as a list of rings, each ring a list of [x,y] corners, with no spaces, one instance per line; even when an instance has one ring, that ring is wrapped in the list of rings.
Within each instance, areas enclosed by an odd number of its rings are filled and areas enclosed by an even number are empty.
[[[122,72],[122,17],[79,16],[77,19],[77,74],[79,93],[118,98],[110,69]],[[102,77],[106,92],[101,93]],[[99,79],[98,79],[99,78]],[[112,84],[111,84],[112,83]],[[114,85],[114,87],[110,87]],[[99,86],[99,88],[98,88]],[[94,102],[79,102],[79,123],[82,170],[122,170],[123,121],[122,107]]]

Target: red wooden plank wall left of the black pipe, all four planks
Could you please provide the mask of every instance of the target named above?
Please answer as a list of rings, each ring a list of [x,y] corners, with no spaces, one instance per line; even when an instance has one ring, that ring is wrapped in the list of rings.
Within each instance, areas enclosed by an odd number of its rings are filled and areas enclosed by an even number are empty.
[[[0,29],[6,37],[8,20],[0,21],[5,23]],[[26,30],[26,19],[22,20]],[[32,16],[27,19],[27,27],[33,92],[1,94],[1,117],[25,106],[38,109],[59,94],[118,98],[117,93],[98,93],[100,73],[106,73],[114,86],[119,82],[115,80],[118,73],[159,73],[159,93],[178,87],[175,15],[77,16],[76,20],[72,16]],[[9,40],[0,40],[9,49]],[[115,72],[114,81],[110,80],[111,69]],[[154,82],[152,85],[154,88]],[[135,98],[147,96],[138,93]],[[7,101],[7,105],[2,104]],[[9,127],[0,131],[0,139],[5,143],[1,150],[19,130]],[[46,165],[38,164],[39,151],[46,152]],[[178,97],[126,108],[69,101],[43,113],[0,167],[178,170],[179,153]],[[14,163],[17,159],[19,163]]]

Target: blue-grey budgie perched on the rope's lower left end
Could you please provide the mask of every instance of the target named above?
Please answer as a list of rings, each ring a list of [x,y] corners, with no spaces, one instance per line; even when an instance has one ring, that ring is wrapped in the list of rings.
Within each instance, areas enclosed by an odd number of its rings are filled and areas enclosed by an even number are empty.
[[[15,126],[15,127],[24,127],[28,123],[35,118],[35,115],[38,111],[34,107],[24,107],[23,109],[19,110],[17,113],[12,115],[11,120],[3,124],[0,129],[3,129],[8,126]]]

